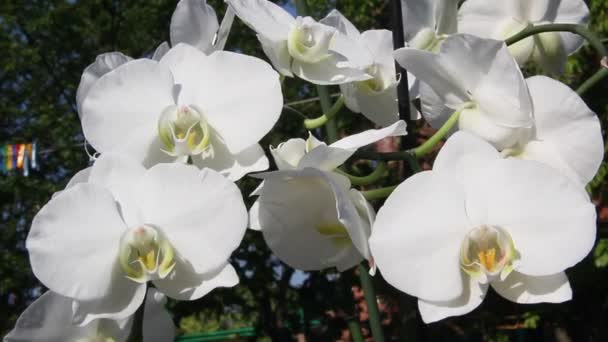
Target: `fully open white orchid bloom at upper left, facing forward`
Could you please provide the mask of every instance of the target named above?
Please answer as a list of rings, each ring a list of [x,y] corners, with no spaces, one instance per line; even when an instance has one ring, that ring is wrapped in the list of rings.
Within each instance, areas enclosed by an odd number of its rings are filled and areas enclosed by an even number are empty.
[[[236,180],[268,168],[257,142],[282,107],[279,75],[266,62],[179,44],[159,62],[133,60],[103,75],[87,92],[81,121],[101,153],[146,166],[191,158]]]

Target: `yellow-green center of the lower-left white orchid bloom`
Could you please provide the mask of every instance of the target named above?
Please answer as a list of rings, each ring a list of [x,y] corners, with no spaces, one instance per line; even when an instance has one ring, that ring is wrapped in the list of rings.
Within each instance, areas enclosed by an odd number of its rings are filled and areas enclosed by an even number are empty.
[[[148,225],[125,232],[119,260],[125,276],[138,283],[164,279],[175,266],[173,247],[160,231]]]

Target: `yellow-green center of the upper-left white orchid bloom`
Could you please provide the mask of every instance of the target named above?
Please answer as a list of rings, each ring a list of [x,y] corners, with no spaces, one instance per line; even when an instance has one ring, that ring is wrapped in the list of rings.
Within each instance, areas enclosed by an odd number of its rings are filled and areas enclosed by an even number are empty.
[[[210,143],[211,130],[196,107],[169,106],[158,120],[158,135],[165,153],[183,157],[204,152]]]

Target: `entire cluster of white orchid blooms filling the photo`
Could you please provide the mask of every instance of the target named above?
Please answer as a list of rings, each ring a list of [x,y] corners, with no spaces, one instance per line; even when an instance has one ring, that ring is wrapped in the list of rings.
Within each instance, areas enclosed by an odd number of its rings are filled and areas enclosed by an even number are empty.
[[[559,75],[584,40],[504,39],[585,25],[588,9],[582,0],[459,2],[402,0],[406,46],[395,50],[391,31],[360,32],[336,10],[316,21],[267,0],[226,0],[220,25],[205,0],[181,0],[170,43],[142,58],[98,56],[77,103],[99,157],[33,220],[26,246],[49,291],[5,340],[125,341],[138,316],[144,341],[169,341],[166,297],[235,286],[230,255],[248,227],[300,270],[367,261],[370,274],[418,298],[425,322],[472,311],[490,287],[517,303],[569,300],[564,271],[595,242],[585,185],[603,159],[601,127],[567,85],[524,78],[520,67]],[[223,51],[234,15],[270,64]],[[432,170],[399,184],[376,214],[341,166],[407,134],[395,61],[438,129],[405,152],[421,157],[448,138]],[[270,146],[277,170],[268,171],[259,141],[282,112],[284,77],[338,85],[334,106],[378,129]],[[235,184],[245,175],[261,180],[249,210]]]

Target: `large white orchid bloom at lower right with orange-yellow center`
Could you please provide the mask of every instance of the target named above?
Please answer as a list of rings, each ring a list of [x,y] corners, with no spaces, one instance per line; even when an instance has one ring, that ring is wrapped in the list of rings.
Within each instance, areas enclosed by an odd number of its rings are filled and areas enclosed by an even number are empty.
[[[428,323],[472,311],[489,286],[517,303],[569,300],[564,270],[595,235],[595,207],[578,183],[457,132],[432,171],[387,199],[370,247],[384,278],[418,297]]]

